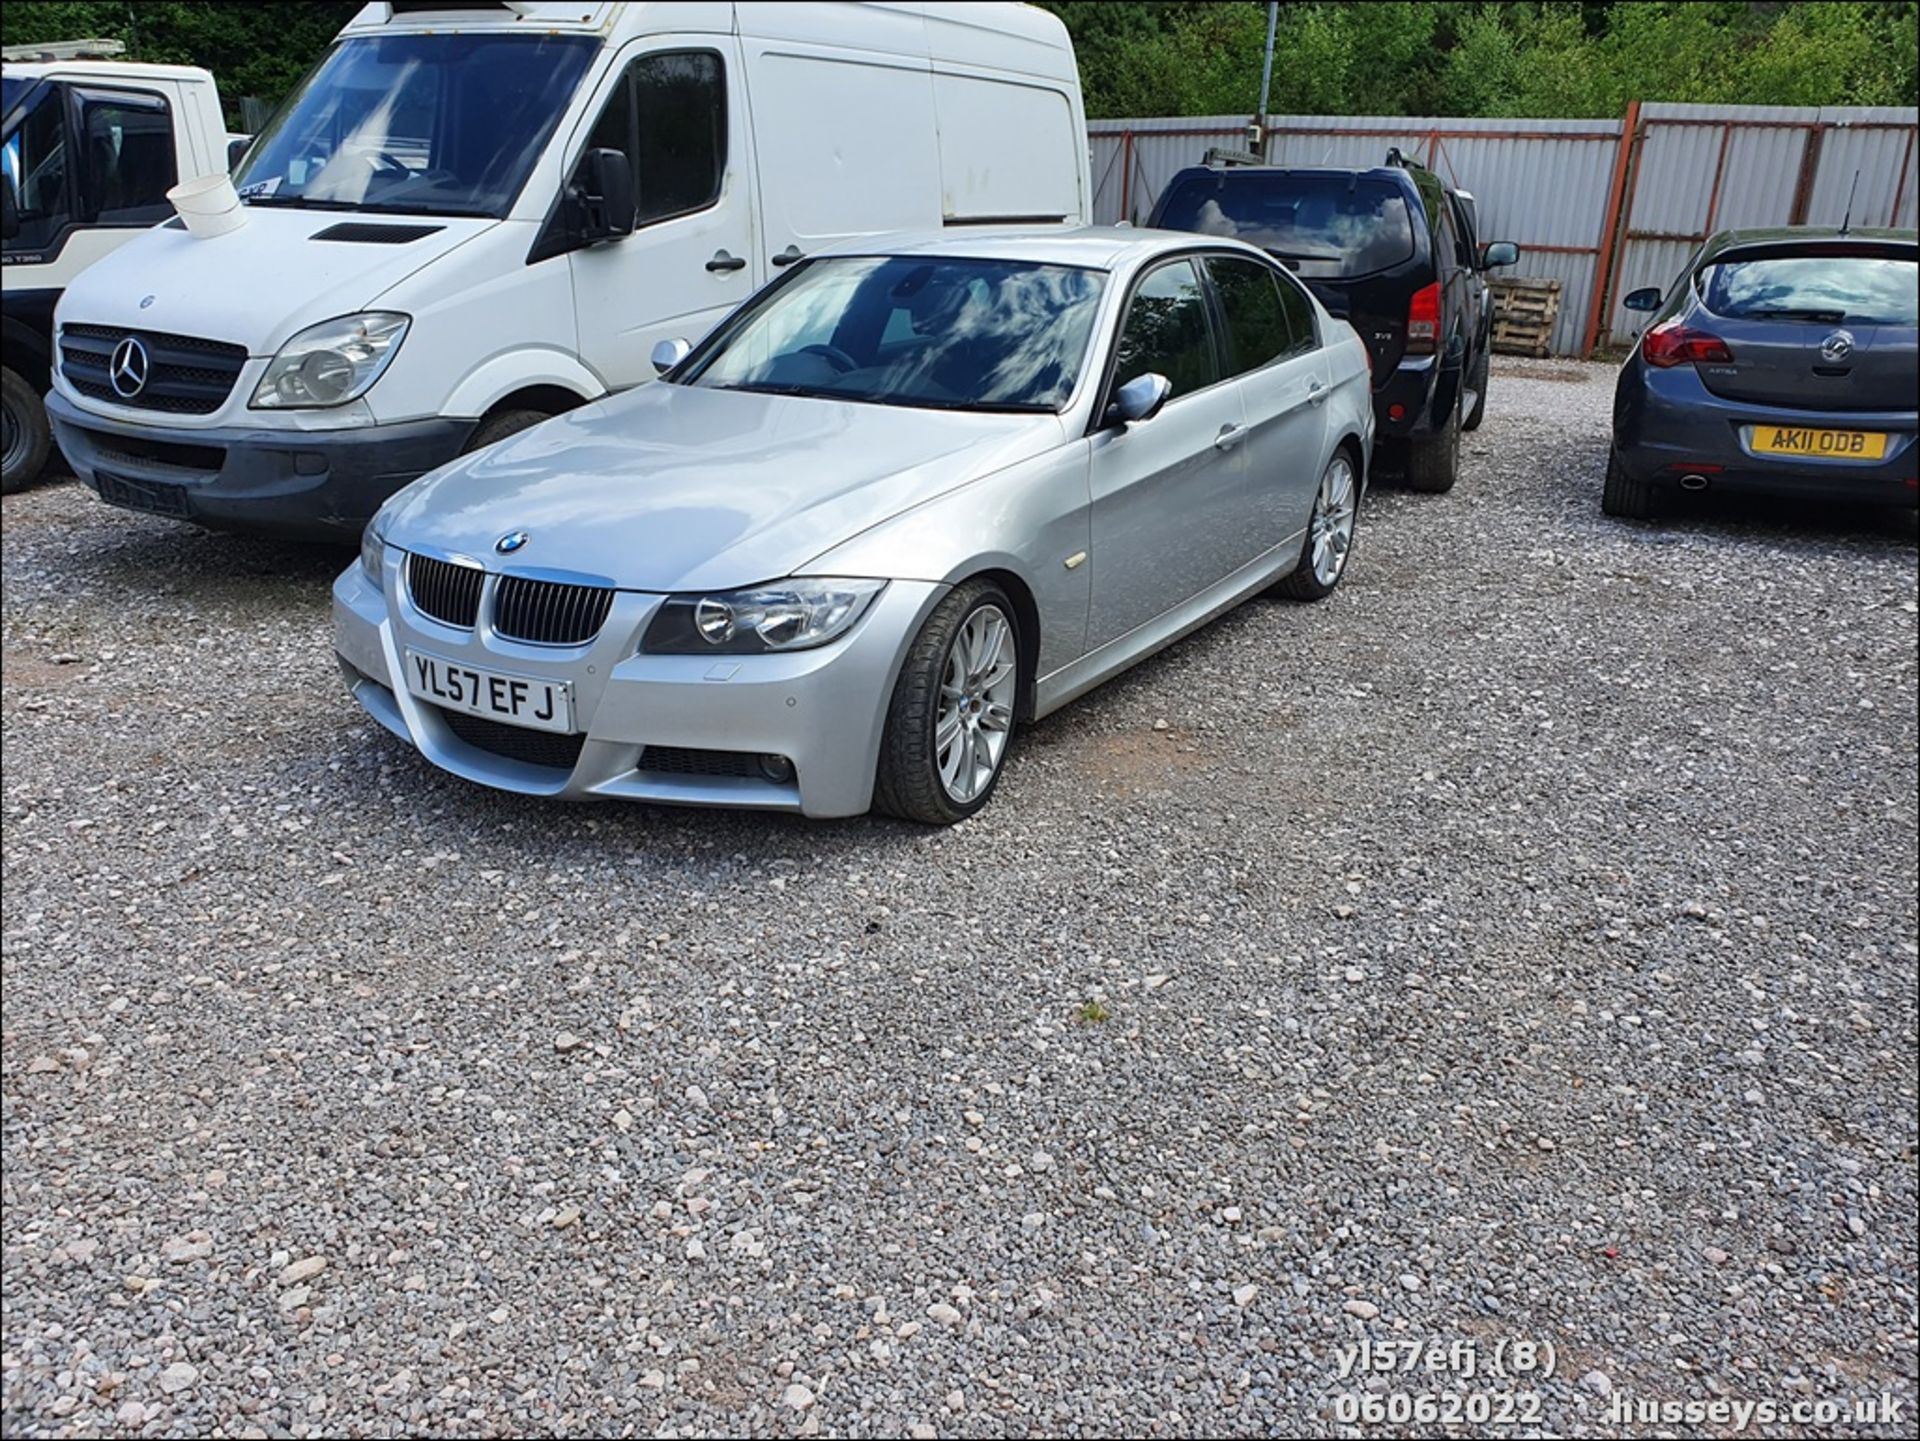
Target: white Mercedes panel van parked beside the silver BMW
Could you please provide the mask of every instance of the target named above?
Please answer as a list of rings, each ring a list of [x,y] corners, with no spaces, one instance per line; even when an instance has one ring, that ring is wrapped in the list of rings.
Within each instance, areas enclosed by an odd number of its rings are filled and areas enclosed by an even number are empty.
[[[369,4],[234,184],[65,292],[48,414],[113,505],[342,539],[820,246],[1091,205],[1020,4]]]

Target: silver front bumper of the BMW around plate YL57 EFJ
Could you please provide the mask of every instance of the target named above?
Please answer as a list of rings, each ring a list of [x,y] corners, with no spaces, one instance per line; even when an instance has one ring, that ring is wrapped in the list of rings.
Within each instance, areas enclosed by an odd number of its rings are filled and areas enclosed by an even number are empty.
[[[639,637],[660,595],[618,591],[586,645],[526,645],[493,633],[486,604],[470,629],[422,614],[407,595],[403,566],[405,555],[388,547],[380,585],[359,562],[334,581],[334,650],[353,697],[434,766],[532,796],[803,815],[858,815],[872,806],[900,658],[947,591],[929,581],[891,581],[852,631],[814,650],[655,656],[639,654]],[[449,720],[407,689],[409,649],[478,672],[570,685],[578,758],[538,764],[520,746],[463,739],[457,716]],[[488,731],[463,729],[482,737]],[[730,766],[730,758],[739,764]],[[758,766],[762,758],[783,758],[791,775],[778,766],[768,773]]]

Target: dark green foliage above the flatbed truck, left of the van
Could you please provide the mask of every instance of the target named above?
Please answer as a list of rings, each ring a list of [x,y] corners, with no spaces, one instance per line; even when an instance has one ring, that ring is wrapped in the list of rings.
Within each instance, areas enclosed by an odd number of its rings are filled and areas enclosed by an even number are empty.
[[[129,59],[205,65],[238,129],[240,98],[276,106],[355,10],[355,0],[6,0],[6,42],[121,40]]]

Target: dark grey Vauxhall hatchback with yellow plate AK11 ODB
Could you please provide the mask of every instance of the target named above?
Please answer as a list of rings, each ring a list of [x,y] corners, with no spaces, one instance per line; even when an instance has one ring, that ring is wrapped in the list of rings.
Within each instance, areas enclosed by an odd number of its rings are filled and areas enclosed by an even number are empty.
[[[1912,230],[1722,230],[1620,368],[1601,505],[1645,518],[1661,493],[1734,489],[1914,507]]]

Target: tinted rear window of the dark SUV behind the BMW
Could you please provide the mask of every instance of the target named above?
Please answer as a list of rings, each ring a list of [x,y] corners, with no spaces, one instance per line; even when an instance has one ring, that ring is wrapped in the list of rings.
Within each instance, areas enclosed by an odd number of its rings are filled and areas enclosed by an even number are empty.
[[[1158,224],[1246,240],[1308,280],[1375,274],[1415,253],[1402,190],[1348,175],[1194,177],[1167,194]]]

